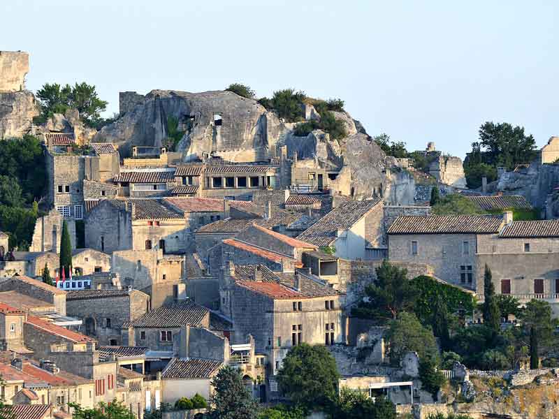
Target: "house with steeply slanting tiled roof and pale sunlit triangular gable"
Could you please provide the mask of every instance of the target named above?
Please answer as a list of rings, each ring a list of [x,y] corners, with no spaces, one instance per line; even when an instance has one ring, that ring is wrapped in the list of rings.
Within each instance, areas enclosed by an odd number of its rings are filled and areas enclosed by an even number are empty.
[[[382,200],[349,200],[297,238],[316,247],[333,247],[340,258],[379,259],[386,255],[383,219]]]

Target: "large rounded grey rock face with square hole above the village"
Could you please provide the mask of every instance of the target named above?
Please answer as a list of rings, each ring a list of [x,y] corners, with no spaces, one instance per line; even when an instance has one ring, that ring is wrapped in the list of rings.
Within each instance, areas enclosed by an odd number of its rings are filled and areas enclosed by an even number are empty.
[[[103,127],[95,141],[114,142],[124,156],[133,145],[159,146],[167,137],[169,117],[184,131],[177,151],[185,161],[210,152],[224,158],[232,153],[237,161],[266,159],[284,131],[273,113],[230,91],[153,90],[145,96],[135,94],[124,115]]]

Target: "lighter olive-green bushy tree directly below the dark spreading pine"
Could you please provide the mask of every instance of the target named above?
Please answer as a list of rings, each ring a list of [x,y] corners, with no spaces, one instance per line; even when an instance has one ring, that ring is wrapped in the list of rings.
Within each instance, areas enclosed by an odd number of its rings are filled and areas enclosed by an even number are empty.
[[[393,365],[398,365],[409,351],[416,352],[420,360],[438,360],[435,336],[430,328],[419,323],[415,314],[400,312],[398,318],[391,322],[386,338],[390,342],[389,357]]]

